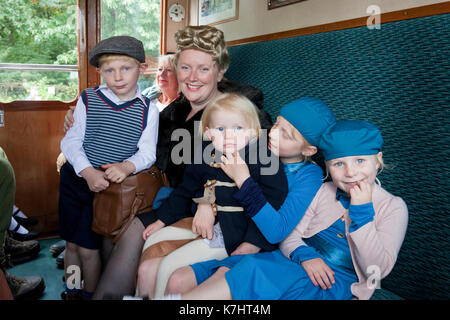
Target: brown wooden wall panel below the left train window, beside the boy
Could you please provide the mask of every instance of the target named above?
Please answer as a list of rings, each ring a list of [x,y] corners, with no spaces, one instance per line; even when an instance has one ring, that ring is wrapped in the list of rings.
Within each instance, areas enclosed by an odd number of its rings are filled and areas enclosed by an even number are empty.
[[[58,228],[59,175],[56,158],[67,109],[5,111],[0,146],[16,175],[15,203],[28,216],[39,219],[40,232]]]

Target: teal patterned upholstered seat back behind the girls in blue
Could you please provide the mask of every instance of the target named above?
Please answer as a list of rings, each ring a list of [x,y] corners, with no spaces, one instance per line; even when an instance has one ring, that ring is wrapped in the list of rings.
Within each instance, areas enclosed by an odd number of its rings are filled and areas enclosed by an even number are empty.
[[[450,298],[449,25],[442,14],[229,48],[226,77],[260,88],[273,119],[312,96],[338,119],[379,126],[388,165],[379,178],[410,213],[382,287],[405,299]]]

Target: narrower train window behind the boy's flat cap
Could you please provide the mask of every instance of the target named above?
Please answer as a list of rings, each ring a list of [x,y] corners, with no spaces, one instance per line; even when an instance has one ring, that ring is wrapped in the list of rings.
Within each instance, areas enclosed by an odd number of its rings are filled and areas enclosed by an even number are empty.
[[[153,84],[160,52],[161,0],[102,0],[101,37],[129,35],[144,44],[149,67],[139,80],[141,89]]]

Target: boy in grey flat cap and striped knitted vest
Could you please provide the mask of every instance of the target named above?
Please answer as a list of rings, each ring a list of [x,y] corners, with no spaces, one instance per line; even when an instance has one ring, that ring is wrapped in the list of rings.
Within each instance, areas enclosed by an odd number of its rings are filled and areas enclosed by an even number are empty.
[[[74,125],[61,141],[67,162],[60,171],[59,198],[59,232],[67,243],[65,269],[79,266],[84,280],[83,291],[67,288],[66,297],[87,299],[100,275],[101,236],[91,229],[94,192],[153,165],[159,123],[157,108],[137,84],[146,68],[141,41],[111,37],[88,56],[104,83],[81,93]]]

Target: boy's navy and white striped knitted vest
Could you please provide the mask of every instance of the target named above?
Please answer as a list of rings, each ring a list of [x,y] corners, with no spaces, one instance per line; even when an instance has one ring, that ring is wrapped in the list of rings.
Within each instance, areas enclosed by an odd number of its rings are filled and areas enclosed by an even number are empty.
[[[116,105],[98,87],[81,93],[86,106],[86,132],[83,148],[94,168],[122,162],[134,155],[147,125],[150,100],[127,101]]]

